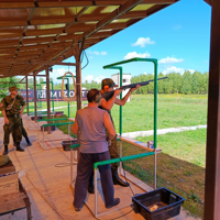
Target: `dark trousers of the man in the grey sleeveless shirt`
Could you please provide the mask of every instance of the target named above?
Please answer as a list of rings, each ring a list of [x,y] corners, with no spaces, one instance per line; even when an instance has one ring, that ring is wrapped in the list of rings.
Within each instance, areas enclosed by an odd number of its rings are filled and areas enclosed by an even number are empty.
[[[96,162],[110,160],[109,152],[97,153],[97,154],[82,154],[80,153],[78,165],[77,165],[77,177],[75,185],[75,198],[74,207],[81,208],[86,199],[89,177],[94,170],[94,164]],[[114,201],[114,189],[111,175],[111,166],[103,165],[98,166],[101,177],[101,187],[105,198],[106,206],[112,206]]]

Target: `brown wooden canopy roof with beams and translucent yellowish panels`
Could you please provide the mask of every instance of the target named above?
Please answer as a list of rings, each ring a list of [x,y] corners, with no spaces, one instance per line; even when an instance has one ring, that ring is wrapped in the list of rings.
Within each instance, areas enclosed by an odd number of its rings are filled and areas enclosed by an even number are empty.
[[[42,72],[177,1],[1,0],[0,77]]]

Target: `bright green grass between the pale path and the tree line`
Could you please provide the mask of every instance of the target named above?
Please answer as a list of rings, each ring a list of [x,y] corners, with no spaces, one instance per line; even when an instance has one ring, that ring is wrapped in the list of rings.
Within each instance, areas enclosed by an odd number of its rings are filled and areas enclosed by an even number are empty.
[[[131,101],[122,107],[122,132],[147,131],[153,129],[154,102],[153,95],[134,95]],[[82,105],[87,103],[82,101]],[[30,110],[34,111],[33,102],[30,102]],[[68,103],[65,101],[54,102],[55,111],[64,111],[67,116]],[[76,101],[70,103],[70,117],[76,116]],[[51,103],[52,107],[52,103]],[[46,102],[42,108],[46,109]],[[114,127],[119,132],[119,106],[112,108]],[[191,127],[207,123],[207,96],[189,95],[158,95],[157,100],[157,129]]]

